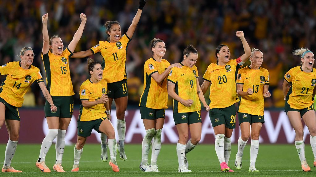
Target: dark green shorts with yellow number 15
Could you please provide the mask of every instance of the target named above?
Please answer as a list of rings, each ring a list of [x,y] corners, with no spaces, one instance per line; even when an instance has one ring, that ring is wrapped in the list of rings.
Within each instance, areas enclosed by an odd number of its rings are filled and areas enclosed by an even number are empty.
[[[55,113],[51,112],[51,105],[45,102],[45,117],[71,118],[74,111],[73,96],[52,96],[53,103],[57,107]]]

